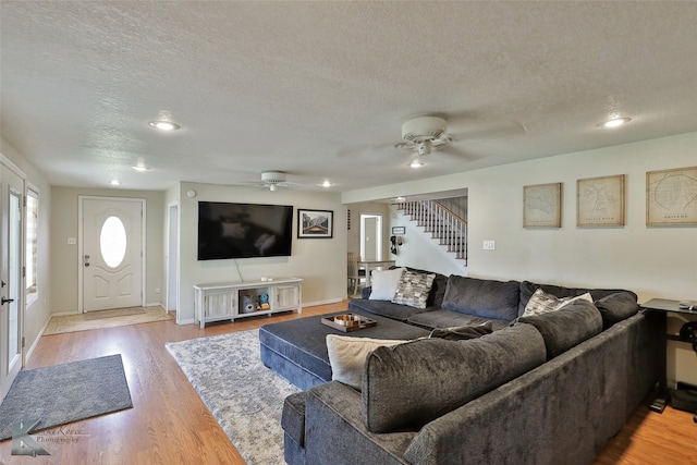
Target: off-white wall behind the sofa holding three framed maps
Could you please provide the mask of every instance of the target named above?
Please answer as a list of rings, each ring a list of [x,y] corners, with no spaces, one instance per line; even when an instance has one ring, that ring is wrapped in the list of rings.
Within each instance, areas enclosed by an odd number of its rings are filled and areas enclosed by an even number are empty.
[[[346,192],[344,203],[467,187],[468,274],[697,299],[697,227],[646,227],[646,172],[697,164],[697,133]],[[576,180],[626,174],[626,225],[576,227]],[[523,186],[563,183],[562,228],[523,228]],[[494,240],[496,250],[482,250]],[[416,264],[414,265],[416,266]]]

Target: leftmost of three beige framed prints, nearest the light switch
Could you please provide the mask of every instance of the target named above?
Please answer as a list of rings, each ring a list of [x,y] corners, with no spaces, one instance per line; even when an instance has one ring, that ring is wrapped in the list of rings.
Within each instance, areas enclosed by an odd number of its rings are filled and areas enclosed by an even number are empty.
[[[562,227],[562,183],[523,187],[523,228]]]

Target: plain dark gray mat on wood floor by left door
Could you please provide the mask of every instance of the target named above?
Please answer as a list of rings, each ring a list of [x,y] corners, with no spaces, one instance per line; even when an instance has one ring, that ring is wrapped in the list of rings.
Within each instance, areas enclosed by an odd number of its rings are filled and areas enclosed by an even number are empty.
[[[20,421],[38,419],[38,431],[131,407],[120,354],[22,370],[0,404],[0,440]]]

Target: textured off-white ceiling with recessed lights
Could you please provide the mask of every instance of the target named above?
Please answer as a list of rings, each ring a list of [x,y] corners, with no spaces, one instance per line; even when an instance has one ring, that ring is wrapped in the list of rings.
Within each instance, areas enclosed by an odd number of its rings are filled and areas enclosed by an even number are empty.
[[[347,191],[697,131],[697,2],[0,9],[2,135],[53,185],[280,170]],[[150,129],[161,113],[182,129]],[[393,145],[421,114],[448,119],[454,152],[413,170]],[[597,127],[611,115],[633,120]]]

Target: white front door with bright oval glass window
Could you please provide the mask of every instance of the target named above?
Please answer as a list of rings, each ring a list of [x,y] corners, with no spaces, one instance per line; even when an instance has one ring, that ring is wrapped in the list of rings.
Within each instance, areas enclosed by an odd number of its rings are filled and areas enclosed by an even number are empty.
[[[143,305],[144,200],[82,197],[83,310]]]

